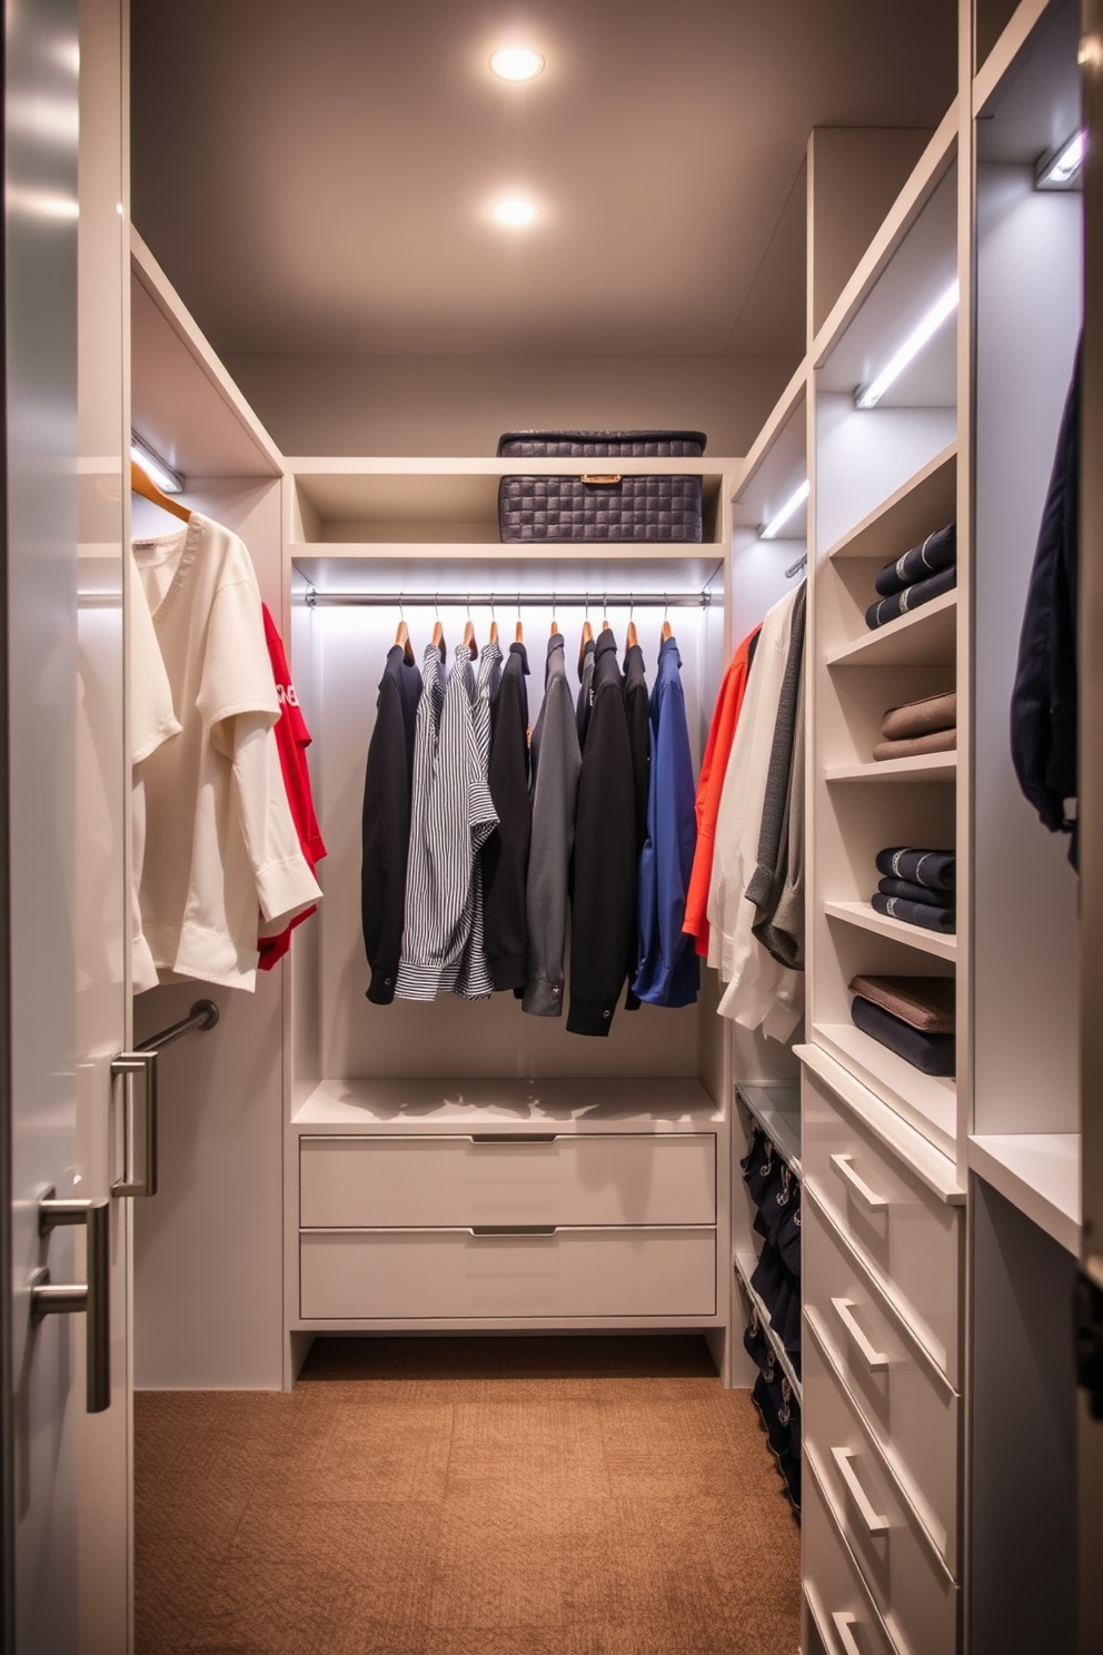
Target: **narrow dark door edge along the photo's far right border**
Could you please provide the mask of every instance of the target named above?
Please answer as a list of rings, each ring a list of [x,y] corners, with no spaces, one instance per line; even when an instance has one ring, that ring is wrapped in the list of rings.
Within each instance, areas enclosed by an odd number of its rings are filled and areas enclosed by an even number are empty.
[[[1083,1309],[1095,1397],[1080,1392],[1080,1650],[1103,1648],[1103,0],[1085,0],[1085,364],[1080,540],[1080,962],[1083,1016]],[[1093,1324],[1093,1326],[1091,1326]],[[1086,1377],[1086,1375],[1085,1375]],[[1095,1410],[1093,1405],[1095,1403]]]

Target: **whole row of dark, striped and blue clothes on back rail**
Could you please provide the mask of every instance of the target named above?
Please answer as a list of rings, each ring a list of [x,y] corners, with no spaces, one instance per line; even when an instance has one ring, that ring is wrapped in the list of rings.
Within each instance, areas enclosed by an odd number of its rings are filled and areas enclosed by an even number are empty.
[[[468,622],[446,674],[438,624],[420,672],[410,657],[402,622],[364,778],[367,998],[513,991],[561,1016],[571,914],[569,1033],[609,1034],[625,983],[627,1010],[691,1005],[693,766],[670,624],[648,695],[635,626],[622,667],[612,629],[587,622],[572,702],[552,622],[531,743],[519,636],[503,664]]]

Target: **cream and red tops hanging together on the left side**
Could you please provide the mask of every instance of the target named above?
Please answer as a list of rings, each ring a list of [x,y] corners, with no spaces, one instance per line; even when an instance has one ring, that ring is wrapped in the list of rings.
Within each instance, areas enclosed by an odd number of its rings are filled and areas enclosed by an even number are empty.
[[[192,511],[132,556],[134,991],[253,990],[321,900],[309,732],[236,535]]]

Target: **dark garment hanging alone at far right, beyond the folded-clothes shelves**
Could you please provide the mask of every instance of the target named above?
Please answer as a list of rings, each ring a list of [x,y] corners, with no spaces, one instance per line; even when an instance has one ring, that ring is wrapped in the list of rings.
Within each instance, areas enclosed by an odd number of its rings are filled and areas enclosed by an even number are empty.
[[[1050,832],[1072,836],[1077,867],[1077,627],[1080,611],[1080,374],[1077,349],[1042,530],[1027,588],[1010,697],[1010,756],[1019,786]]]

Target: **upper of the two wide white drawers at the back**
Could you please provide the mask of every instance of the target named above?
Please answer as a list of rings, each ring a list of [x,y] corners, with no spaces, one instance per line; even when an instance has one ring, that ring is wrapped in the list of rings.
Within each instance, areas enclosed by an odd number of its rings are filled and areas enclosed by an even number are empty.
[[[706,1134],[299,1139],[301,1225],[714,1225]]]

